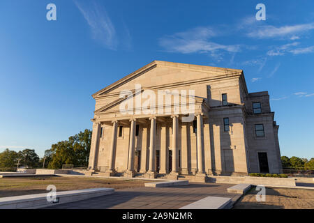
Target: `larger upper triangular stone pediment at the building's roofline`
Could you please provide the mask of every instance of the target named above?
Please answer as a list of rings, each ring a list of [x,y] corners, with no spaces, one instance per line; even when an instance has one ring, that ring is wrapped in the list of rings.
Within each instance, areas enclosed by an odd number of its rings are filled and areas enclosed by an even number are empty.
[[[143,87],[158,89],[160,86],[173,86],[180,83],[193,82],[196,79],[209,79],[217,76],[239,75],[242,70],[197,66],[185,63],[153,61],[146,66],[119,79],[104,89],[94,93],[94,98],[103,97],[124,90],[135,89],[135,84]]]

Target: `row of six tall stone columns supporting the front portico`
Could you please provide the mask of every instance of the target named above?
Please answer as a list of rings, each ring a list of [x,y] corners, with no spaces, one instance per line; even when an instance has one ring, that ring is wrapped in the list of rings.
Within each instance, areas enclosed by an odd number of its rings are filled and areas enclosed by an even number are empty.
[[[203,169],[203,151],[204,151],[204,130],[203,130],[203,114],[197,114],[197,174],[204,174]],[[172,115],[172,172],[170,174],[179,174],[179,116]],[[149,171],[148,174],[156,176],[155,157],[156,157],[156,117],[149,118],[151,121],[150,128],[150,141],[149,141]],[[112,121],[112,141],[110,146],[109,169],[110,176],[114,175],[115,152],[117,148],[117,129],[118,121]],[[96,139],[99,138],[100,124],[96,127]],[[130,141],[128,151],[128,169],[126,170],[127,176],[134,176],[134,152],[135,152],[135,132],[136,132],[136,119],[130,119]],[[97,140],[96,140],[97,141]],[[96,143],[96,148],[98,147]],[[92,161],[92,168],[95,168],[96,163],[96,149],[94,149],[94,156]]]

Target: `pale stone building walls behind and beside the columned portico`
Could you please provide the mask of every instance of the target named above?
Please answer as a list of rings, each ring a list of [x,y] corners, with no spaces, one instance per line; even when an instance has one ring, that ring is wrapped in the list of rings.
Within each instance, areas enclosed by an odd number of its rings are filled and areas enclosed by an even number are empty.
[[[119,86],[104,98],[96,98],[96,109],[119,98],[121,90],[132,90],[135,84],[154,87],[165,84],[170,90],[195,90],[195,95],[204,98],[209,106],[209,112],[204,115],[204,151],[203,165],[208,174],[248,174],[260,172],[257,158],[258,152],[266,152],[271,173],[281,172],[281,158],[278,143],[278,125],[274,122],[274,113],[269,105],[267,91],[248,93],[244,76],[225,76],[214,78],[215,72],[186,70],[185,68],[170,68],[161,66],[149,71],[130,82]],[[221,75],[221,71],[220,71]],[[149,77],[149,78],[148,78]],[[205,79],[202,83],[193,82],[195,77]],[[208,78],[211,77],[209,80]],[[218,76],[217,76],[218,77]],[[171,86],[169,83],[191,82]],[[166,86],[167,85],[167,86]],[[158,88],[157,88],[158,89]],[[227,93],[228,106],[222,105],[222,94]],[[262,114],[253,114],[252,103],[261,102]],[[94,118],[100,118],[95,116]],[[230,131],[224,132],[223,118],[229,118]],[[264,125],[264,137],[255,136],[255,124]],[[140,134],[135,137],[135,150],[141,151],[140,171],[148,169],[150,124],[140,125]],[[112,126],[102,125],[103,137],[96,139],[96,124],[93,125],[91,148],[98,145],[96,152],[96,167],[105,170],[109,166]],[[99,132],[98,132],[99,133]],[[119,134],[119,127],[118,127]],[[130,127],[124,125],[122,137],[117,139],[115,168],[123,172],[128,167]],[[99,134],[98,134],[99,135]],[[197,169],[197,137],[193,133],[192,123],[179,122],[178,146],[181,151],[180,167],[186,174],[195,174]],[[160,151],[160,165],[167,164],[167,150],[172,150],[172,122],[157,122],[156,150]],[[167,149],[166,149],[167,148]],[[91,154],[94,152],[91,150]],[[90,156],[90,163],[93,155]],[[167,168],[160,171],[167,173]]]

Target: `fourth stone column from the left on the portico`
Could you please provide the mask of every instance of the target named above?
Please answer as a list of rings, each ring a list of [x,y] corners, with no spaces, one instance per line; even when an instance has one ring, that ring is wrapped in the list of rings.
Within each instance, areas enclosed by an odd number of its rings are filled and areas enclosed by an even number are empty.
[[[149,171],[145,174],[146,178],[156,178],[155,170],[155,138],[156,138],[156,117],[149,118],[151,121],[151,134],[149,138]]]

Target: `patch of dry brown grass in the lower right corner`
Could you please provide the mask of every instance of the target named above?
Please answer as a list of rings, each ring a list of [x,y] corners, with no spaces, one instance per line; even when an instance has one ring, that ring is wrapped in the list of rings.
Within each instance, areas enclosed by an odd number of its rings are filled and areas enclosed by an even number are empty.
[[[266,187],[266,201],[257,202],[255,187],[236,203],[234,209],[313,209],[314,190]]]

